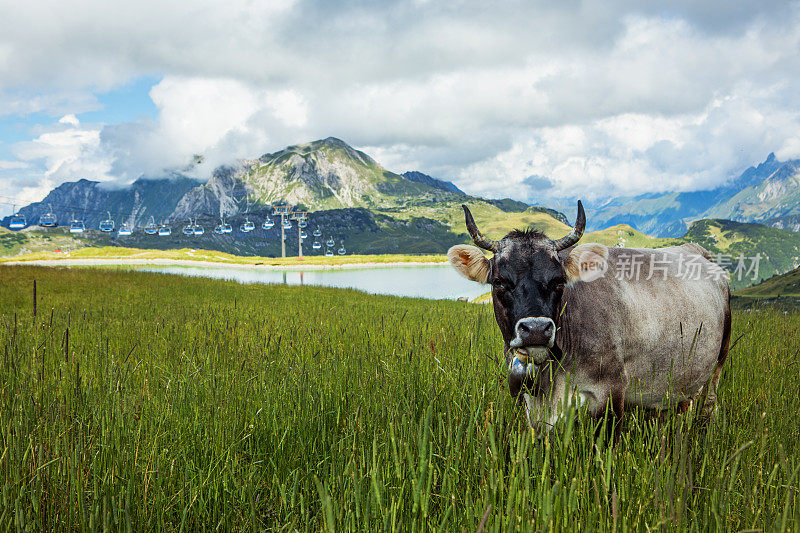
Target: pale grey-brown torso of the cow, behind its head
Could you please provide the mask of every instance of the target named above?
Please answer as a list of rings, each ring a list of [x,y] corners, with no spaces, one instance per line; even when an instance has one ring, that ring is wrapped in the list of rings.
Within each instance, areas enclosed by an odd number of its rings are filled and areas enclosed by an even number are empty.
[[[694,397],[730,320],[727,276],[709,257],[699,245],[609,248],[604,276],[568,287],[556,342],[576,384],[622,374],[626,403],[646,407]]]

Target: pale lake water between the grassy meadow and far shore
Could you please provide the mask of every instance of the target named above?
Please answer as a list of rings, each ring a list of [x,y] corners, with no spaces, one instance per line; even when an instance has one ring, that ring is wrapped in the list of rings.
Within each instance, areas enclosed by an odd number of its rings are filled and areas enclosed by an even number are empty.
[[[284,283],[358,289],[372,294],[391,294],[434,300],[466,297],[472,300],[489,292],[488,285],[468,281],[450,265],[376,267],[330,270],[261,270],[206,267],[145,267],[146,272],[201,276],[240,283]]]

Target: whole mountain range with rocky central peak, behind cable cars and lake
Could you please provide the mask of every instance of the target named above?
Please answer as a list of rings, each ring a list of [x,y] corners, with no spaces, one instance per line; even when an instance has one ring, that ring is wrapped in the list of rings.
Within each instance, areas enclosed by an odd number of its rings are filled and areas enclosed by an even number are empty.
[[[180,174],[171,179],[138,180],[121,190],[108,190],[88,180],[65,183],[45,201],[22,212],[34,223],[51,203],[60,224],[69,223],[74,212],[92,230],[110,211],[118,225],[125,220],[137,227],[133,235],[119,237],[97,231],[84,235],[93,242],[140,248],[190,246],[236,254],[276,255],[280,253],[280,225],[269,230],[260,226],[271,215],[272,204],[277,203],[310,211],[308,232],[320,228],[326,239],[337,241],[337,247],[344,241],[350,253],[438,253],[463,242],[465,234],[454,233],[442,217],[428,215],[436,215],[436,207],[443,204],[489,204],[465,195],[452,183],[419,172],[408,175],[391,172],[365,153],[329,137],[218,167],[205,183]],[[402,212],[402,216],[382,211],[393,209]],[[502,212],[496,207],[491,209]],[[170,227],[171,236],[141,231],[151,216],[157,223],[163,220]],[[222,216],[235,228],[251,219],[259,225],[258,231],[215,234],[211,230]],[[182,230],[189,220],[202,225],[205,234],[184,235]],[[288,232],[290,254],[297,246],[294,228]],[[311,244],[309,239],[306,254],[312,253]],[[19,243],[14,247],[20,249]],[[322,248],[313,253],[324,251]]]

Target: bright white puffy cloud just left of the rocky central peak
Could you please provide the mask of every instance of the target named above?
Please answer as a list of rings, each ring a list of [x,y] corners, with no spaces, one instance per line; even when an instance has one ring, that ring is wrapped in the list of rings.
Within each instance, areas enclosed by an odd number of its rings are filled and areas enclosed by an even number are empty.
[[[159,110],[153,121],[106,126],[102,148],[113,155],[112,174],[123,181],[183,168],[195,154],[207,177],[217,165],[261,155],[265,147],[296,142],[307,105],[291,90],[269,90],[232,79],[167,76],[150,91]]]

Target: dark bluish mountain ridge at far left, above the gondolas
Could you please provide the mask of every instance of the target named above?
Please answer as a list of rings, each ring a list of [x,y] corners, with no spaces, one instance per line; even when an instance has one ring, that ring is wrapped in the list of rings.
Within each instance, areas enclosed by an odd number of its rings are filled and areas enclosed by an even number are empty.
[[[59,185],[41,202],[23,207],[28,224],[38,224],[39,218],[50,211],[59,224],[69,224],[72,218],[83,220],[87,227],[97,227],[111,213],[117,224],[142,225],[153,217],[156,222],[169,217],[186,193],[197,187],[197,180],[172,173],[156,179],[140,178],[130,187],[110,189],[97,181],[81,179]],[[8,226],[8,220],[3,221]]]

